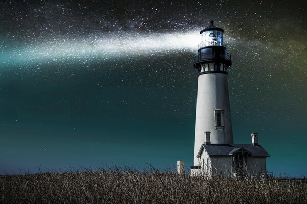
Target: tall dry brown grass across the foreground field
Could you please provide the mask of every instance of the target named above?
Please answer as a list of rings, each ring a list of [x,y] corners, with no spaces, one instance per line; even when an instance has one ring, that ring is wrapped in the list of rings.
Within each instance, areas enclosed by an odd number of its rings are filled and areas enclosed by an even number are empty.
[[[305,182],[131,168],[0,176],[1,203],[307,203]]]

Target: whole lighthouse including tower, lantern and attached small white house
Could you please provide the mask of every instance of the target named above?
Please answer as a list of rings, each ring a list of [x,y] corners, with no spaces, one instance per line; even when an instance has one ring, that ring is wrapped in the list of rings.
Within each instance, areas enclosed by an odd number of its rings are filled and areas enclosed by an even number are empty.
[[[202,41],[194,58],[198,70],[194,165],[191,175],[266,175],[268,152],[252,133],[252,144],[233,144],[228,69],[231,56],[223,42],[224,30],[210,25],[200,31]]]

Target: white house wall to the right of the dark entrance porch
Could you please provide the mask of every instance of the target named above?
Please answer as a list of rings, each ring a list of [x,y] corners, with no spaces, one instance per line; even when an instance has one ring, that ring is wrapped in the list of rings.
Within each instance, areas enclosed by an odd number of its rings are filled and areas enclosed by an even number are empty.
[[[266,175],[267,166],[265,157],[249,157],[246,159],[247,172],[252,176]]]

